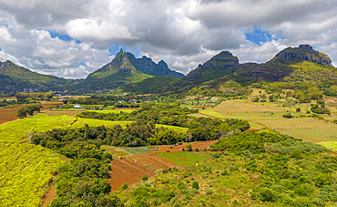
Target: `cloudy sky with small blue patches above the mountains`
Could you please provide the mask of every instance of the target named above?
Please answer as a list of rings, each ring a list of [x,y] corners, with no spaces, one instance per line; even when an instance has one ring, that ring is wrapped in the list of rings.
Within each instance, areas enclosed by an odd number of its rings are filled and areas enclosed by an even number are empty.
[[[0,0],[0,61],[86,78],[120,48],[182,72],[221,51],[267,62],[311,45],[337,66],[336,0]]]

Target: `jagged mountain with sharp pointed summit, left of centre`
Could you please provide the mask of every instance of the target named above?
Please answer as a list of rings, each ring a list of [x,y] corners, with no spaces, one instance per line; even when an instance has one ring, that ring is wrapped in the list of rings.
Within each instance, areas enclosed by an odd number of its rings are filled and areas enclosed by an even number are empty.
[[[106,66],[97,69],[79,85],[80,88],[112,89],[123,84],[134,83],[154,76],[184,77],[183,74],[170,70],[163,61],[158,64],[151,58],[136,58],[121,49],[117,56]]]

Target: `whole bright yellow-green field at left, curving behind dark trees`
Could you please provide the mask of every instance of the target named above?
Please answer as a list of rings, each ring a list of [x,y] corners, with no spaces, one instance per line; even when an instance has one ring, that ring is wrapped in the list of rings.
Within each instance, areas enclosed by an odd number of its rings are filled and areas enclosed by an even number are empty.
[[[66,127],[75,118],[46,114],[0,126],[0,206],[39,206],[62,157],[41,146],[26,143],[35,131]]]

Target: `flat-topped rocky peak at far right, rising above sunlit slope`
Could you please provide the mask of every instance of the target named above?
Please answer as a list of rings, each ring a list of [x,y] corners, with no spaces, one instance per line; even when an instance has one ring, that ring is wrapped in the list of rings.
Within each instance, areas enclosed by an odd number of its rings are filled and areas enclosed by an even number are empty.
[[[277,54],[271,61],[277,59],[286,60],[306,60],[320,65],[332,66],[332,60],[327,55],[315,51],[309,45],[301,45],[299,47],[288,47]]]

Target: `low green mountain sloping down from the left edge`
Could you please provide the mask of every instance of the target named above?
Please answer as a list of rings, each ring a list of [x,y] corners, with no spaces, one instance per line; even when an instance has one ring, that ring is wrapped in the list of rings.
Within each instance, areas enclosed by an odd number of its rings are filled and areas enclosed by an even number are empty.
[[[63,88],[72,80],[41,75],[25,67],[18,67],[11,61],[0,61],[0,92],[16,92],[26,89],[47,91]]]

